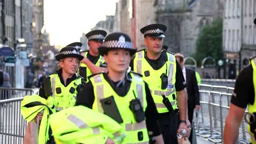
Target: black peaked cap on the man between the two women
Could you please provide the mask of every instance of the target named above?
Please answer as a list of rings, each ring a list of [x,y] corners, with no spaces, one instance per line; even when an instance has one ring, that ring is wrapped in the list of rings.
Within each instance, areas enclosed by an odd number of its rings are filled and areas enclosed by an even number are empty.
[[[105,30],[92,30],[87,33],[85,36],[87,37],[88,41],[100,41],[104,42],[104,37],[107,35]]]

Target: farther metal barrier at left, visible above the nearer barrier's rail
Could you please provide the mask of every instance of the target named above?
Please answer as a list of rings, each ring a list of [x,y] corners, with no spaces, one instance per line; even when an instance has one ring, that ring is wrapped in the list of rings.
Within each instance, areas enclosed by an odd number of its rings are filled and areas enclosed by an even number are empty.
[[[16,89],[13,87],[0,87],[0,100],[21,98],[25,95],[34,94],[33,89]]]

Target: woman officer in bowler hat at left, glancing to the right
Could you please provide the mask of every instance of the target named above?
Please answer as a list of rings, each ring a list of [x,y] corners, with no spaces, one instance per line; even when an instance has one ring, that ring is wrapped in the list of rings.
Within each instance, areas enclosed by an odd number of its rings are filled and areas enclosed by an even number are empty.
[[[59,61],[60,69],[45,79],[39,95],[47,99],[50,108],[60,111],[75,105],[76,95],[83,84],[83,78],[76,71],[79,61],[84,57],[75,47],[67,46],[55,58]]]

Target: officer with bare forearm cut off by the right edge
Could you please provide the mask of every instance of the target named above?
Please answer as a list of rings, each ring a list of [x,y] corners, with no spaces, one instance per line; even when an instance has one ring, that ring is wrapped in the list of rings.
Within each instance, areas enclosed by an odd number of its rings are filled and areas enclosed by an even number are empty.
[[[254,19],[256,25],[256,18]],[[256,143],[256,57],[251,58],[251,64],[245,67],[238,75],[235,90],[231,97],[231,104],[225,122],[224,143],[236,143],[239,125],[244,117],[244,111],[249,106],[248,131],[251,143]]]

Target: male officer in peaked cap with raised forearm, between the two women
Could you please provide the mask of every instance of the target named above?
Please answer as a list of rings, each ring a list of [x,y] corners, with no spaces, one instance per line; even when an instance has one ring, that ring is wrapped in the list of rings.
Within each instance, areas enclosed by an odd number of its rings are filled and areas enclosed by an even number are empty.
[[[89,51],[84,51],[84,59],[81,61],[79,66],[79,75],[81,75],[85,82],[88,82],[88,76],[100,73],[101,71],[106,72],[106,65],[104,63],[103,57],[99,55],[99,47],[104,42],[104,37],[107,35],[107,32],[104,30],[92,30],[87,33],[85,36],[88,39]]]

